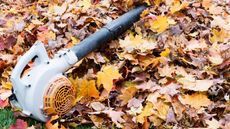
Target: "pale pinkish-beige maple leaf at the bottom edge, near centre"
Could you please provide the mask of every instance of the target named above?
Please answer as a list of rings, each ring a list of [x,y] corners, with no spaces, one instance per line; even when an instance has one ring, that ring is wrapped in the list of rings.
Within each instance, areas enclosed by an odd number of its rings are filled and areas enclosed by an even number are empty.
[[[112,109],[110,110],[105,110],[103,113],[108,114],[108,116],[112,119],[112,121],[116,124],[118,128],[122,128],[122,124],[124,123],[125,120],[122,118],[122,115],[124,115],[124,112],[122,111],[113,111]]]

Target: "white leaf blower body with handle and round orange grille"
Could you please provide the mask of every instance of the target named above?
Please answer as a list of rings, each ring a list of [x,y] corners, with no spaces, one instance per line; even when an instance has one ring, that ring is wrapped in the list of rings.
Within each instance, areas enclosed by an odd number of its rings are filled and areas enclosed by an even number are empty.
[[[22,76],[35,58],[31,71]],[[67,113],[74,104],[75,89],[63,73],[78,61],[71,50],[59,51],[49,59],[43,43],[36,42],[14,68],[11,80],[18,105],[23,113],[46,121],[48,115]]]

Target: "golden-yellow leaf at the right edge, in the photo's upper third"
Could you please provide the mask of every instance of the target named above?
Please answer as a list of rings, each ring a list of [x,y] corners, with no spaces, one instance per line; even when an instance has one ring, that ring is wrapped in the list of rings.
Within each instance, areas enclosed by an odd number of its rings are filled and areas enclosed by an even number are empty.
[[[212,43],[224,42],[225,38],[228,38],[228,33],[224,29],[212,29],[212,36],[209,38]]]

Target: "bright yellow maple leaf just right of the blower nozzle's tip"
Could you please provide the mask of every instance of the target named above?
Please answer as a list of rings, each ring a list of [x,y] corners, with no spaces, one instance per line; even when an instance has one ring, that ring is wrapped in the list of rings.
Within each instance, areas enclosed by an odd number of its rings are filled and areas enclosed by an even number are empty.
[[[157,16],[156,20],[150,20],[150,29],[158,33],[164,32],[168,27],[168,18],[166,16]]]

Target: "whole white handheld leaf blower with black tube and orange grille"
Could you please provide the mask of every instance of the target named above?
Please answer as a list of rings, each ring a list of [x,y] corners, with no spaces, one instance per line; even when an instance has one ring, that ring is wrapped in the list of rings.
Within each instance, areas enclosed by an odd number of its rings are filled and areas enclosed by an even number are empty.
[[[71,49],[60,50],[50,59],[43,43],[36,42],[18,61],[11,75],[16,105],[39,121],[63,115],[74,106],[75,90],[64,72],[99,46],[117,38],[139,20],[145,5],[138,6],[108,23]],[[22,76],[27,64],[35,66]]]

